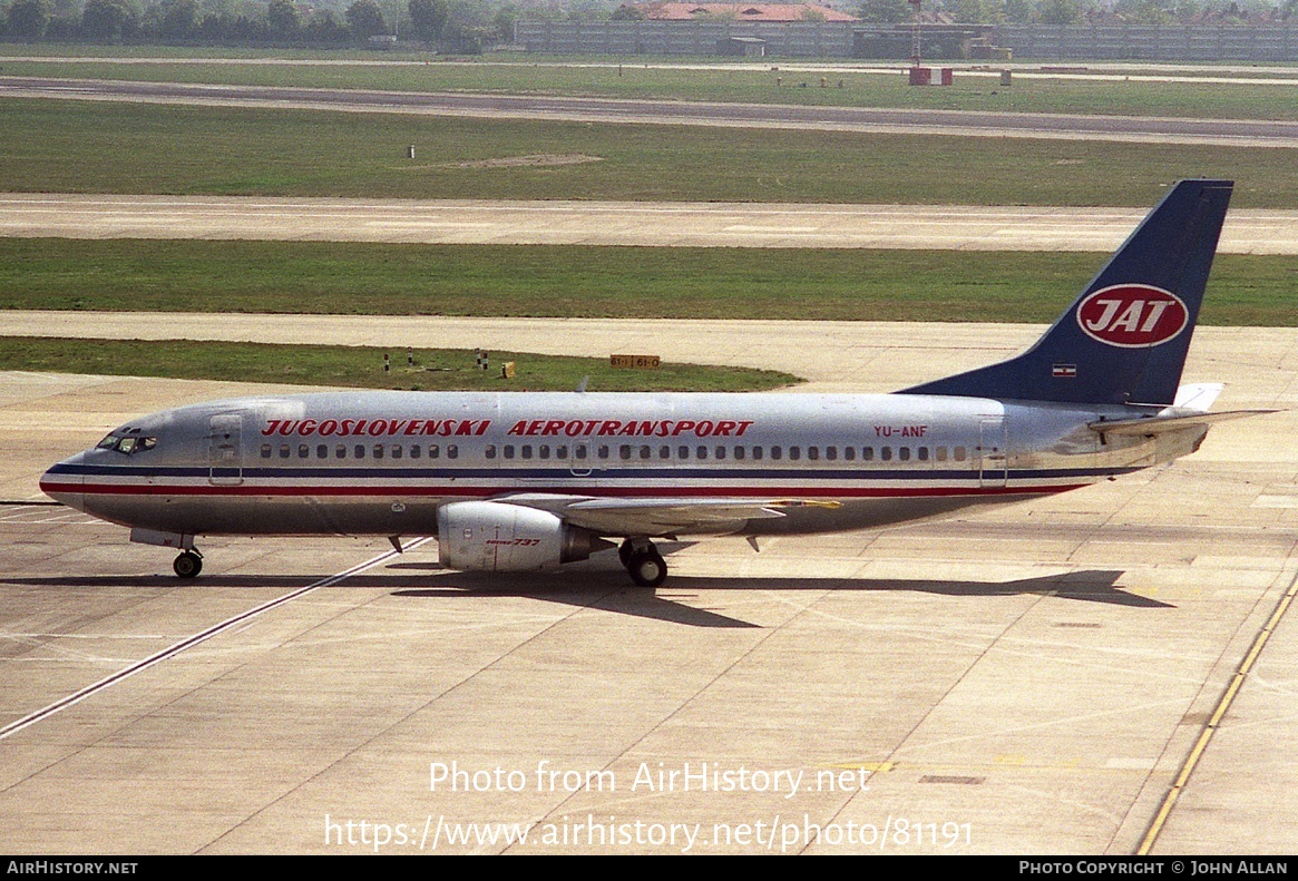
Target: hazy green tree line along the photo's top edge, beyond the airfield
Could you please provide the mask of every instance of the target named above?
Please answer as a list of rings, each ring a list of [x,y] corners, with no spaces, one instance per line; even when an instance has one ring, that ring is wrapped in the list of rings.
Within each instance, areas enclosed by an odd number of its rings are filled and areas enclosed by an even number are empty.
[[[5,0],[0,0],[4,4]],[[513,39],[524,0],[12,0],[0,5],[0,39],[22,43],[175,45],[369,45],[395,36],[452,53],[475,53]],[[820,0],[822,3],[824,0]],[[330,8],[328,4],[337,4]],[[386,5],[380,6],[380,3]],[[637,18],[619,0],[526,0],[527,18]],[[52,5],[53,4],[53,5]],[[907,0],[837,0],[866,22],[905,23]],[[976,23],[1262,23],[1298,16],[1298,0],[924,0],[925,13]]]

